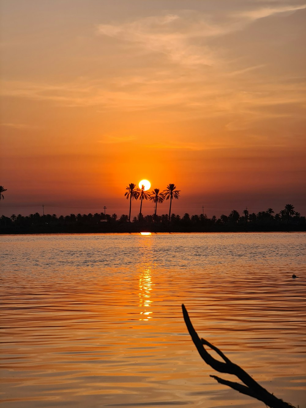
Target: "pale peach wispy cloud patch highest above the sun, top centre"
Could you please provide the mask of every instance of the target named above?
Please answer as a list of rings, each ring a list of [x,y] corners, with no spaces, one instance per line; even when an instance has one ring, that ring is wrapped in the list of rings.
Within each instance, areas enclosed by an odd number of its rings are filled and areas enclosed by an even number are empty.
[[[160,53],[174,63],[197,66],[218,63],[213,49],[205,44],[206,38],[224,35],[235,29],[239,29],[237,22],[216,24],[207,15],[180,10],[177,14],[100,24],[97,33],[133,44],[144,53]]]

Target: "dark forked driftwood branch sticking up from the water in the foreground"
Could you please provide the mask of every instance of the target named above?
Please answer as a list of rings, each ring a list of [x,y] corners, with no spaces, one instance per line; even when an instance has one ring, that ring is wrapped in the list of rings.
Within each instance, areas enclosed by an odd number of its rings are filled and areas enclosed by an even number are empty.
[[[235,375],[245,385],[233,381],[227,381],[215,375],[211,375],[211,377],[216,379],[220,384],[225,384],[233,388],[234,390],[241,392],[242,394],[249,395],[250,397],[256,398],[259,401],[264,402],[264,404],[271,408],[295,408],[293,405],[288,404],[288,402],[285,402],[282,399],[275,397],[275,395],[271,394],[265,388],[259,385],[240,366],[232,363],[232,361],[228,359],[228,357],[226,357],[226,355],[224,355],[219,348],[213,346],[213,344],[209,343],[209,341],[207,340],[200,339],[200,337],[197,335],[197,332],[193,328],[188,312],[184,305],[182,305],[182,310],[184,320],[188,328],[188,332],[191,335],[191,338],[193,340],[193,343],[195,344],[195,347],[197,348],[197,351],[199,352],[200,356],[205,361],[205,363],[211,366],[214,370],[219,371],[219,373],[228,373]],[[224,362],[219,361],[212,357],[204,346],[208,346],[209,348],[214,350],[218,355],[220,355]]]

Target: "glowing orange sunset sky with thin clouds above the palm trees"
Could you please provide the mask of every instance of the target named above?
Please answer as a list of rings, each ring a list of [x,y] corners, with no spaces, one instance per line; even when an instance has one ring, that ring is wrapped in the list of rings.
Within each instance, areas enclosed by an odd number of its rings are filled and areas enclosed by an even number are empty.
[[[0,215],[128,214],[142,179],[181,215],[306,215],[305,22],[299,0],[1,0]]]

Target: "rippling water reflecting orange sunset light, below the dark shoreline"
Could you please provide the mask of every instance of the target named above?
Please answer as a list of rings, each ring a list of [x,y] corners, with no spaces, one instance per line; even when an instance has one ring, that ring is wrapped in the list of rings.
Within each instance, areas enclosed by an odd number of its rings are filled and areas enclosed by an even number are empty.
[[[0,241],[3,407],[264,407],[209,377],[182,303],[201,337],[306,407],[305,233]]]

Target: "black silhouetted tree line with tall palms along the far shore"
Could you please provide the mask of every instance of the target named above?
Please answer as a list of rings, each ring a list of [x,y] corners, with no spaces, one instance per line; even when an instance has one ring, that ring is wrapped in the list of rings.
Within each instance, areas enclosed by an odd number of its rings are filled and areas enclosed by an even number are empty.
[[[6,188],[0,186],[0,200],[4,200],[3,192]],[[31,233],[31,232],[205,232],[205,231],[305,231],[306,217],[294,211],[292,204],[286,204],[284,209],[275,213],[273,208],[266,211],[249,213],[246,208],[243,215],[233,209],[228,215],[221,214],[219,218],[213,215],[208,218],[206,214],[189,215],[185,213],[182,217],[171,214],[172,200],[178,200],[180,190],[175,184],[170,183],[163,190],[153,188],[151,193],[142,188],[136,188],[136,184],[130,183],[126,186],[124,194],[130,200],[129,215],[106,214],[104,212],[95,214],[70,214],[60,215],[39,213],[23,216],[12,214],[11,217],[2,215],[0,217],[1,233]],[[140,200],[140,212],[131,221],[131,205],[133,200]],[[150,200],[155,204],[154,213],[142,214],[143,200]],[[170,200],[169,214],[157,215],[157,203]]]

